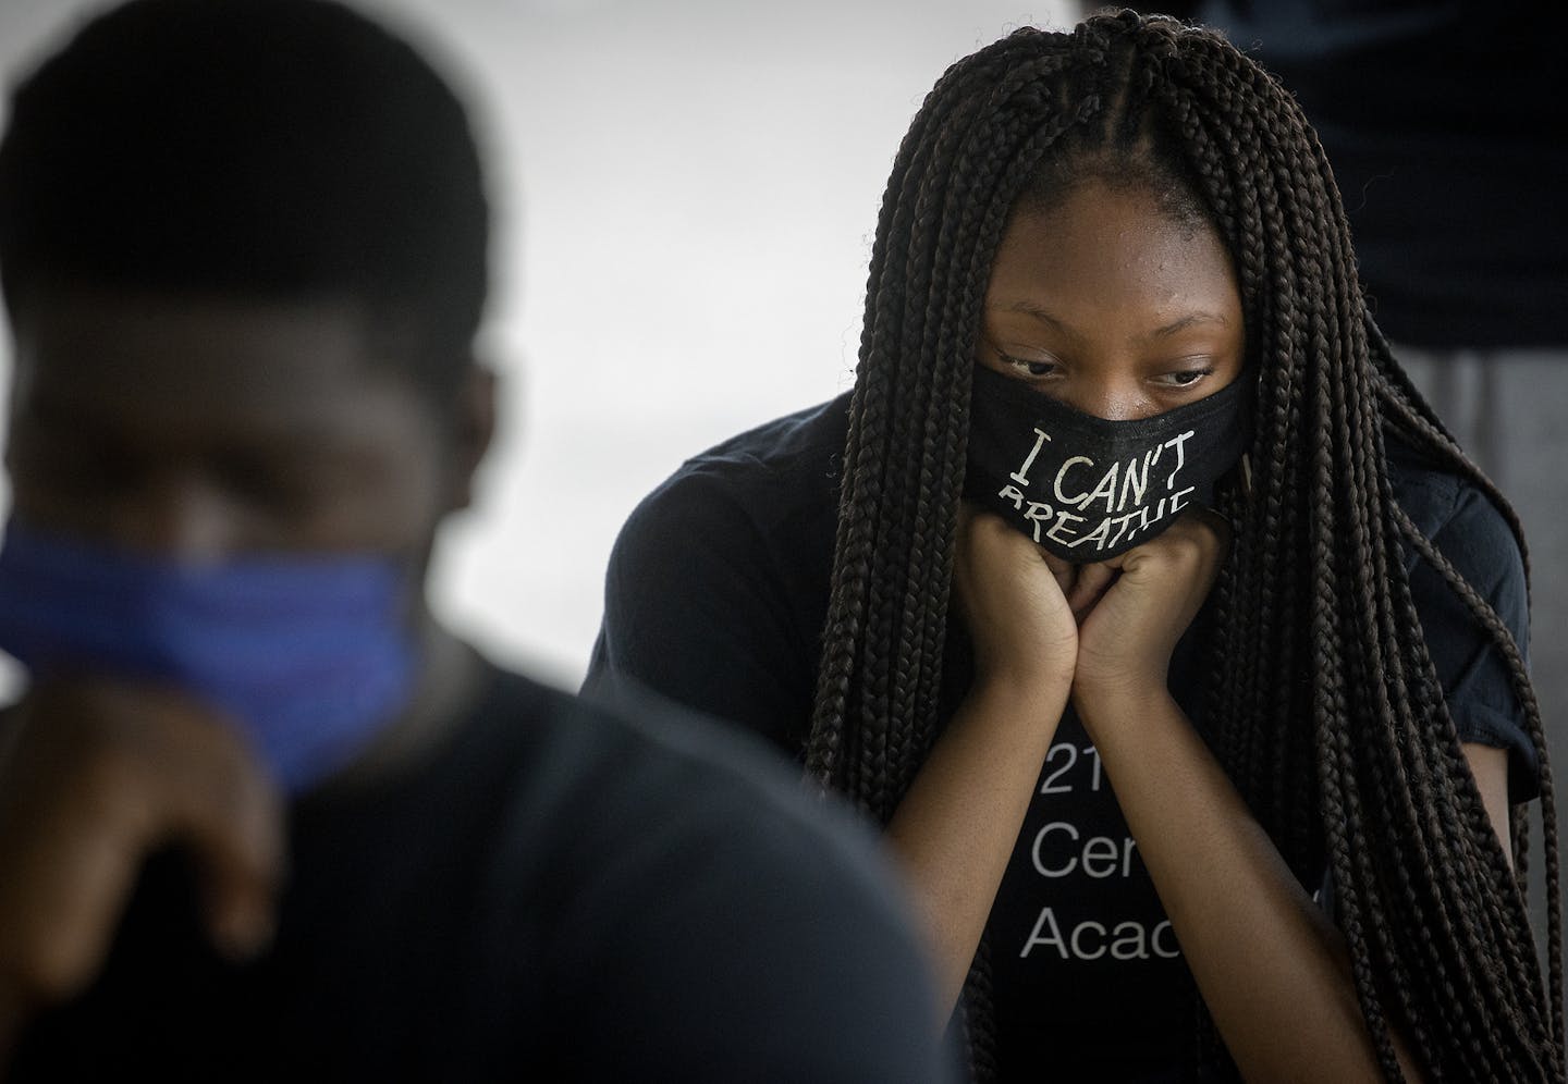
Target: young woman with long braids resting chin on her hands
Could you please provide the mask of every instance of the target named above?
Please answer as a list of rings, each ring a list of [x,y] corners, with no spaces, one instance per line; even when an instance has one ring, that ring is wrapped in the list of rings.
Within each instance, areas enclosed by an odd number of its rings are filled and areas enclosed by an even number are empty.
[[[1104,14],[938,81],[853,393],[638,508],[586,688],[884,824],[977,1078],[1562,1081],[1524,583],[1289,94]]]

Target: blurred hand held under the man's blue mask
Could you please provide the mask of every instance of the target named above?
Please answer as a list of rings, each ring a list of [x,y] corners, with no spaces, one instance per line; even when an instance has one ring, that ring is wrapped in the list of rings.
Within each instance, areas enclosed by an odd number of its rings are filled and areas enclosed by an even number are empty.
[[[194,858],[213,945],[262,951],[284,802],[235,727],[99,678],[41,683],[0,722],[0,1068],[31,1012],[93,982],[143,860],[171,843]]]

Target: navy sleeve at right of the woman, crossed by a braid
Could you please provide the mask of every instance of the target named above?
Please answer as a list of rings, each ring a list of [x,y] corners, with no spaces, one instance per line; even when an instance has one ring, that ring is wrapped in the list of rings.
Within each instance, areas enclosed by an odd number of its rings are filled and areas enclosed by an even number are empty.
[[[1524,561],[1497,508],[1479,490],[1432,475],[1406,482],[1400,503],[1438,551],[1497,612],[1527,658]],[[1502,652],[1436,569],[1419,556],[1411,556],[1408,567],[1427,650],[1460,739],[1505,749],[1510,799],[1524,802],[1535,797],[1540,791],[1540,760],[1524,730],[1524,708]]]

